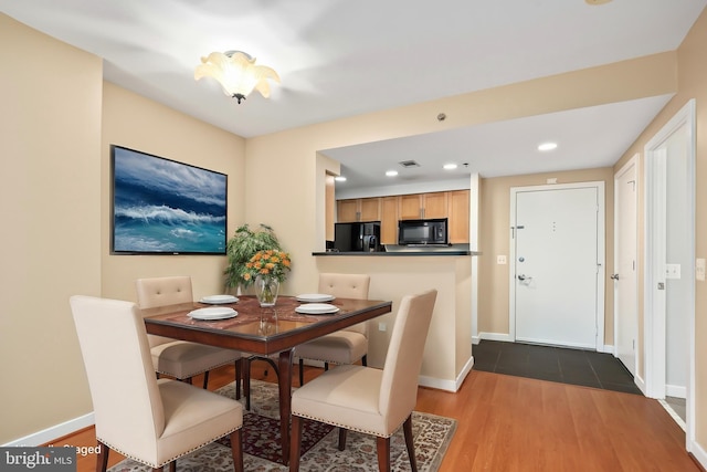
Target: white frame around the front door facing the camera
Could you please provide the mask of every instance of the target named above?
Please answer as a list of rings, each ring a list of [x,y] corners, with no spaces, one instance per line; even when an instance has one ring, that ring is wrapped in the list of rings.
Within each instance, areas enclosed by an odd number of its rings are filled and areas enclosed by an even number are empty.
[[[521,191],[544,191],[544,190],[567,190],[577,188],[595,188],[597,189],[597,352],[604,353],[604,300],[605,300],[605,195],[604,182],[601,180],[590,182],[572,182],[572,183],[551,183],[544,186],[511,187],[510,188],[510,264],[508,270],[508,337],[511,342],[516,342],[516,243],[515,243],[515,225],[516,225],[516,195]]]

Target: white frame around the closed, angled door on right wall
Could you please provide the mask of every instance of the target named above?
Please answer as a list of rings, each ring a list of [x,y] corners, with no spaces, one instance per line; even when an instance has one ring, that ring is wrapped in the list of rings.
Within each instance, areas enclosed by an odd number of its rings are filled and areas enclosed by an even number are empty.
[[[618,272],[618,265],[619,265],[619,252],[616,251],[616,248],[619,248],[619,225],[620,222],[616,221],[616,216],[619,214],[619,201],[616,199],[616,182],[619,181],[619,177],[623,176],[632,166],[635,168],[635,189],[636,191],[634,192],[634,199],[633,199],[633,204],[634,204],[634,209],[635,209],[635,214],[636,214],[636,227],[633,229],[634,232],[634,237],[636,238],[635,240],[635,245],[636,245],[636,265],[639,264],[639,224],[637,224],[637,218],[639,218],[639,190],[641,189],[641,172],[640,172],[640,167],[639,167],[639,159],[640,159],[640,155],[639,154],[634,154],[633,157],[631,157],[631,159],[629,159],[626,161],[626,164],[624,164],[623,166],[621,166],[621,169],[619,169],[615,174],[614,174],[614,273]],[[620,274],[621,276],[623,276],[623,274]],[[636,306],[636,313],[635,313],[635,317],[633,319],[634,322],[634,331],[633,333],[635,334],[635,343],[639,343],[639,268],[635,268],[635,270],[633,271],[633,280],[634,280],[634,286],[635,286],[635,292],[633,294],[633,296],[635,297],[635,306]],[[619,358],[619,343],[616,343],[616,339],[619,338],[619,316],[616,316],[616,314],[619,313],[619,303],[618,303],[618,297],[616,297],[616,287],[615,287],[615,283],[614,283],[614,313],[613,313],[613,317],[614,317],[614,349],[613,349],[613,355],[614,357]],[[626,366],[629,367],[629,366]],[[639,346],[634,347],[634,353],[633,353],[633,371],[634,371],[634,378],[636,377],[636,374],[639,373]]]

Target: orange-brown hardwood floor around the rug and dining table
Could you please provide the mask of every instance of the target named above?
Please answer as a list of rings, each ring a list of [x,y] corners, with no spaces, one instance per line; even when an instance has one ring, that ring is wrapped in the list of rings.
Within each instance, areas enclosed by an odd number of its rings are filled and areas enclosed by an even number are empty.
[[[265,367],[254,363],[253,378],[274,381]],[[306,367],[305,381],[319,373]],[[298,385],[296,378],[295,368]],[[223,367],[211,373],[209,388],[232,380],[233,367]],[[656,400],[639,395],[474,370],[456,394],[420,388],[415,409],[458,421],[440,472],[700,471],[683,430]],[[53,444],[94,447],[95,432]],[[109,465],[122,459],[112,451]],[[94,470],[95,455],[78,458],[78,472]]]

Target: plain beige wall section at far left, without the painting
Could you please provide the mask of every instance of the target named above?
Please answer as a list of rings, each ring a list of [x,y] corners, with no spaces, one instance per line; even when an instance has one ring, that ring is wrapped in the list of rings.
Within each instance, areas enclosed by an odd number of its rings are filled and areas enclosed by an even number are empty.
[[[68,297],[101,294],[103,65],[3,14],[0,64],[1,444],[92,410]]]

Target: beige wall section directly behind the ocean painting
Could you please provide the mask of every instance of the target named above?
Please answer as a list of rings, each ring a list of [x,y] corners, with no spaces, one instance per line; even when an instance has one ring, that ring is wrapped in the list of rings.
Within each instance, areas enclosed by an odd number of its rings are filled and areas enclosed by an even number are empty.
[[[243,221],[245,202],[245,140],[110,83],[103,94],[101,147],[102,293],[136,301],[139,277],[191,275],[194,296],[223,292],[225,258],[219,255],[112,255],[110,145],[129,147],[229,176],[228,233]]]

